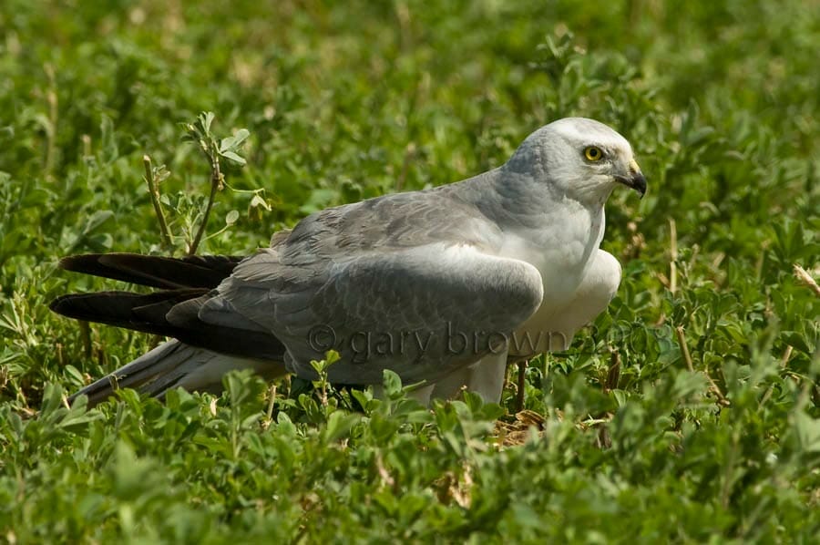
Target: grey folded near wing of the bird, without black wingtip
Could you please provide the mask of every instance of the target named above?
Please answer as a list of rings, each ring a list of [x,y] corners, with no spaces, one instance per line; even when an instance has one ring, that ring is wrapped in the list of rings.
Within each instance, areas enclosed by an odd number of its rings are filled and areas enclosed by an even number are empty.
[[[378,384],[384,369],[411,383],[506,349],[543,295],[535,267],[471,245],[354,255],[288,265],[262,252],[220,285],[200,319],[224,323],[238,314],[275,334],[303,377],[314,377],[311,360],[333,348],[342,355],[329,369],[335,383]]]

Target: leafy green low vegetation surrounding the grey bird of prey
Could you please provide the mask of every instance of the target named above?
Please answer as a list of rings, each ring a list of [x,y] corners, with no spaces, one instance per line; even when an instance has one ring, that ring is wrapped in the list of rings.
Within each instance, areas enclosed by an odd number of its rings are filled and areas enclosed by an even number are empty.
[[[793,267],[818,275],[818,45],[805,0],[5,0],[0,540],[814,541],[820,296]],[[618,296],[531,363],[518,416],[513,374],[502,407],[231,375],[69,409],[155,340],[51,314],[115,285],[56,260],[188,251],[202,111],[233,140],[198,251],[231,254],[497,166],[554,118],[607,122],[650,180],[607,208]]]

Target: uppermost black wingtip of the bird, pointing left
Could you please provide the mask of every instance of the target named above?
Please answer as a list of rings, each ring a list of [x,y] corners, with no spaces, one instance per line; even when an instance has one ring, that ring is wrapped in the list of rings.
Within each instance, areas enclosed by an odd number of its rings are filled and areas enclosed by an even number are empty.
[[[242,259],[226,255],[173,258],[138,253],[87,253],[64,257],[60,267],[163,290],[212,289],[230,276]]]

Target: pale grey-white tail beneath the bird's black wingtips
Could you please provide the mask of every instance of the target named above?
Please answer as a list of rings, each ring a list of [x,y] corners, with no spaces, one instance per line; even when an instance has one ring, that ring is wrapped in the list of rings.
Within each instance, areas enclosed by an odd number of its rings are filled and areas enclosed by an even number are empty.
[[[77,396],[88,396],[88,405],[95,406],[118,388],[134,388],[159,398],[176,387],[219,394],[222,376],[240,369],[253,369],[269,380],[287,374],[279,362],[218,354],[172,340],[84,387],[68,401],[74,403]]]

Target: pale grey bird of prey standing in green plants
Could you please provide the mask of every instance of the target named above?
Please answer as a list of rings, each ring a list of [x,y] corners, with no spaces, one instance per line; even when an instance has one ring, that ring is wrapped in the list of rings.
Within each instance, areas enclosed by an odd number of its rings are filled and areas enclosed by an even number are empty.
[[[218,392],[243,368],[313,379],[311,361],[333,348],[335,384],[378,386],[390,369],[423,383],[422,401],[466,386],[497,402],[508,356],[565,349],[610,303],[620,264],[599,246],[619,185],[646,191],[629,142],[563,118],[495,170],[313,213],[245,259],[64,258],[159,291],[65,295],[55,312],[172,337],[73,398]]]

